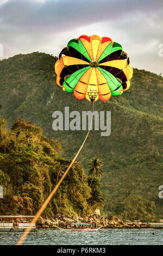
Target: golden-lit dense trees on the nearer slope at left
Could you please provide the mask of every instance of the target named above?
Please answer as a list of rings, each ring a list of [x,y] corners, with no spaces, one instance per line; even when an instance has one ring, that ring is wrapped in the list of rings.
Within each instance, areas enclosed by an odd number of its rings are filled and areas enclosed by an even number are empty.
[[[0,119],[0,184],[4,198],[0,214],[33,215],[65,172],[70,160],[59,157],[58,141],[47,139],[42,130],[27,121],[16,120],[11,131]],[[104,205],[99,179],[84,173],[75,162],[44,214],[85,216]]]

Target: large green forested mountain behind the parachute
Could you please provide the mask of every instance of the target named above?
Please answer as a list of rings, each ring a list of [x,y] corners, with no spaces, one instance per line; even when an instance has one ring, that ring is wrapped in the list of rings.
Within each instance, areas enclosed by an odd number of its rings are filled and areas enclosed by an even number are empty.
[[[59,139],[64,157],[71,158],[86,131],[54,131],[52,113],[64,113],[65,106],[81,113],[90,110],[90,103],[57,86],[56,60],[39,52],[2,60],[0,113],[8,121],[8,129],[16,117],[41,126],[45,136]],[[91,157],[103,159],[106,214],[145,220],[163,217],[163,199],[158,197],[158,187],[163,185],[162,90],[161,76],[134,69],[127,92],[95,103],[96,111],[111,111],[111,135],[101,137],[101,131],[91,131],[78,161],[86,169]]]

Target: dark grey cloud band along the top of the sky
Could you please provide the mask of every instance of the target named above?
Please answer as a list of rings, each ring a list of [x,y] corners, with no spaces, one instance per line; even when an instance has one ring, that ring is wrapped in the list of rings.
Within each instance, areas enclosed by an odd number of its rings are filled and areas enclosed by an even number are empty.
[[[97,21],[120,20],[137,11],[148,13],[162,8],[161,0],[47,0],[39,3],[32,0],[9,0],[0,9],[1,21],[11,26],[41,29],[53,26],[58,29],[74,29]]]

